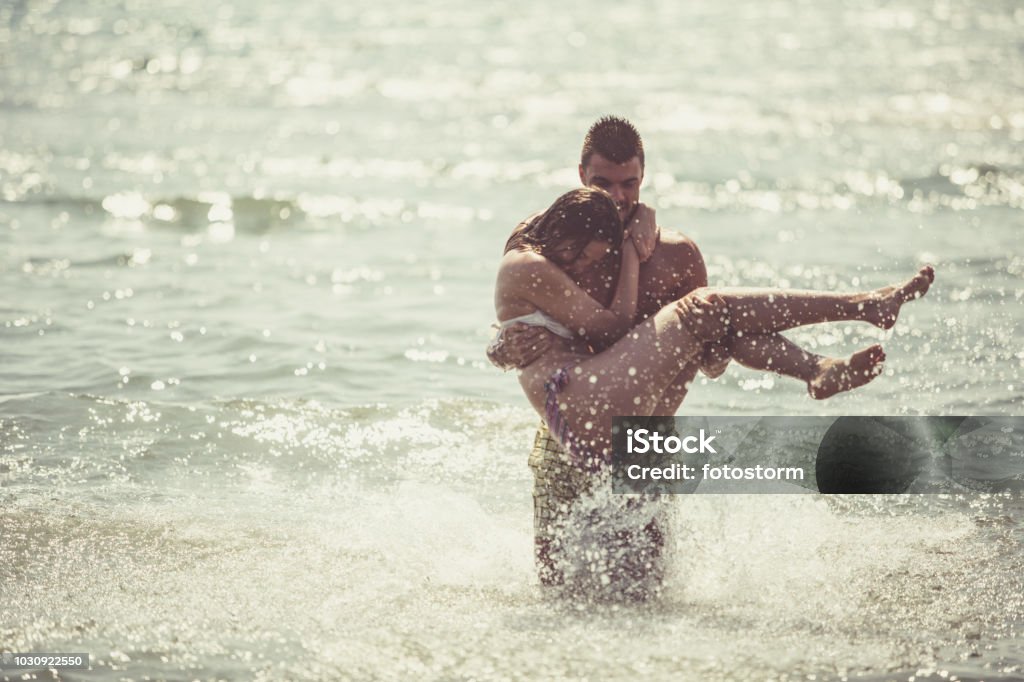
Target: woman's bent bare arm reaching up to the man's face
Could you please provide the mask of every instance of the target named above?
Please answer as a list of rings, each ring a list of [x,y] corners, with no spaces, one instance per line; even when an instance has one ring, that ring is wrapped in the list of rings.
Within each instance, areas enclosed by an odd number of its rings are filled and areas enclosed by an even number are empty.
[[[587,341],[608,345],[632,329],[637,310],[640,258],[632,240],[623,241],[622,258],[608,307],[591,298],[550,260],[527,252],[506,254],[498,272],[496,298],[524,300]]]

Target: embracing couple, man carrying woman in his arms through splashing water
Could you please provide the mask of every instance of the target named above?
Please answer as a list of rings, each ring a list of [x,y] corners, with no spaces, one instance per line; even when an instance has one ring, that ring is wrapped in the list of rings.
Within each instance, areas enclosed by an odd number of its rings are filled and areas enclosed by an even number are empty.
[[[651,512],[580,543],[598,513],[586,500],[607,480],[613,416],[671,417],[698,371],[714,378],[731,360],[803,381],[819,399],[866,384],[882,371],[881,346],[824,357],[779,333],[839,321],[888,329],[934,279],[924,267],[900,285],[853,294],[710,288],[693,242],[659,230],[640,203],[643,169],[636,129],[600,119],[584,140],[584,186],[520,223],[499,266],[500,332],[487,354],[519,370],[543,418],[530,466],[545,585],[578,582],[581,562],[590,566],[583,573],[600,573],[597,584],[620,583],[623,592],[659,584],[664,537]],[[635,502],[622,509],[642,508]]]

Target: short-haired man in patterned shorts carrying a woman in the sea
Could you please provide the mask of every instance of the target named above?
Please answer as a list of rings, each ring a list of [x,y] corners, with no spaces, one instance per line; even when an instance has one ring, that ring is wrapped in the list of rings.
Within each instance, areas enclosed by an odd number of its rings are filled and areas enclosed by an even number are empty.
[[[662,231],[654,220],[654,209],[640,202],[643,141],[629,121],[610,116],[598,120],[584,139],[579,170],[584,185],[604,189],[611,196],[636,244],[642,262],[635,323],[708,285],[708,271],[696,245],[678,232]],[[522,229],[535,217],[519,223],[516,229]],[[620,259],[609,255],[571,276],[591,297],[607,305],[614,293],[618,266]],[[545,329],[513,326],[492,343],[487,356],[503,369],[522,368],[546,352],[553,339]],[[668,417],[676,414],[698,369],[702,367],[709,376],[718,376],[727,364],[724,346],[709,347],[700,364],[685,367],[675,378],[662,398],[658,414]],[[529,466],[535,474],[534,528],[540,578],[545,585],[559,585],[566,581],[569,566],[556,561],[555,555],[562,544],[563,531],[572,523],[574,503],[588,489],[590,480],[571,466],[568,455],[543,423],[529,456]],[[628,511],[635,511],[637,505],[627,503],[627,506],[633,507]],[[593,515],[590,519],[593,520]],[[618,527],[602,538],[602,549],[617,558],[613,566],[599,568],[604,574],[595,582],[600,584],[609,573],[625,577],[626,583],[641,585],[640,592],[632,596],[644,598],[649,595],[642,584],[650,582],[645,579],[652,579],[655,586],[659,583],[663,538],[657,521],[651,516],[641,523],[642,529],[631,532]]]

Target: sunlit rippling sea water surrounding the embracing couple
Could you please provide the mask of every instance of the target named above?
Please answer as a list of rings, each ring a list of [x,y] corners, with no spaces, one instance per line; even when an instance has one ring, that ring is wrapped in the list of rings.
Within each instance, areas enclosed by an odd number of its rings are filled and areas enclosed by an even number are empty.
[[[713,284],[931,262],[887,370],[695,415],[1020,415],[1017,2],[0,6],[0,649],[61,679],[1020,679],[998,495],[680,499],[666,599],[546,601],[511,227],[644,136]],[[865,326],[866,327],[866,326]]]

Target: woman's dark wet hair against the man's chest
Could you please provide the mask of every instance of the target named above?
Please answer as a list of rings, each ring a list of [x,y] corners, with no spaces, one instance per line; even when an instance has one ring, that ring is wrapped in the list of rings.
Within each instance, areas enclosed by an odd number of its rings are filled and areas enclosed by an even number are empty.
[[[559,265],[567,265],[594,240],[617,249],[623,244],[623,221],[608,193],[581,187],[556,199],[551,208],[512,235],[505,243],[505,253],[525,248],[551,258],[556,250],[572,249],[574,256],[568,260],[552,258]]]

